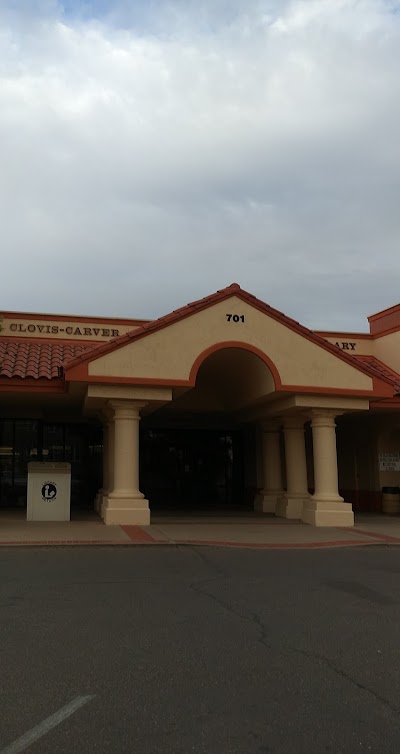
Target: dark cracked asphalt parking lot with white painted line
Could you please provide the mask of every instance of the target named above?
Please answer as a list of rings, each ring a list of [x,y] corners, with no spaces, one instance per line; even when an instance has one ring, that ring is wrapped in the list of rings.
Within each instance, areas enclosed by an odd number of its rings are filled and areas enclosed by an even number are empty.
[[[400,751],[400,551],[3,548],[0,754]]]

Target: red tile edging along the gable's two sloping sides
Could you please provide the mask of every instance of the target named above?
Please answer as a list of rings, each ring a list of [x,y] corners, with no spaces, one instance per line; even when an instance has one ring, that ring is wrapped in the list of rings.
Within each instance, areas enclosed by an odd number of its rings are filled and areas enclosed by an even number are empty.
[[[354,356],[341,351],[333,343],[330,343],[328,340],[325,340],[325,338],[317,335],[316,332],[309,330],[307,327],[304,327],[296,320],[291,319],[291,317],[287,317],[286,314],[283,314],[282,312],[278,311],[278,309],[274,309],[269,304],[261,301],[261,299],[253,296],[252,293],[248,293],[247,291],[243,290],[243,288],[241,288],[238,283],[232,283],[227,288],[222,288],[222,290],[217,291],[216,293],[212,293],[210,296],[205,296],[198,301],[193,301],[191,304],[186,304],[186,306],[182,306],[180,309],[175,309],[173,312],[167,314],[164,317],[160,317],[159,319],[151,320],[142,325],[139,325],[134,330],[131,330],[125,335],[120,335],[119,338],[114,338],[112,341],[108,341],[107,343],[100,343],[99,346],[95,346],[93,348],[93,352],[91,354],[81,353],[71,361],[66,362],[64,364],[65,370],[69,371],[82,362],[89,362],[92,359],[97,359],[102,354],[116,351],[118,348],[121,348],[121,346],[124,346],[131,341],[139,340],[139,338],[149,335],[152,332],[162,330],[164,327],[168,327],[168,325],[172,325],[174,322],[178,322],[180,319],[185,319],[185,317],[188,317],[191,314],[195,314],[196,311],[207,309],[208,307],[213,306],[220,301],[224,301],[231,296],[237,296],[238,298],[242,299],[242,301],[246,301],[248,304],[254,306],[259,311],[264,312],[267,316],[272,317],[278,322],[281,322],[286,327],[289,327],[294,332],[297,332],[303,338],[306,338],[312,343],[321,346],[326,351],[330,351],[335,356],[337,356],[338,359],[347,362],[347,364],[351,364],[353,367],[358,369],[360,372],[367,374],[369,377],[378,377],[380,380],[383,380],[390,385],[393,384],[393,381],[389,379],[387,375],[378,373],[377,369],[373,368],[366,362],[361,362],[361,360],[359,360],[358,363],[355,363]]]

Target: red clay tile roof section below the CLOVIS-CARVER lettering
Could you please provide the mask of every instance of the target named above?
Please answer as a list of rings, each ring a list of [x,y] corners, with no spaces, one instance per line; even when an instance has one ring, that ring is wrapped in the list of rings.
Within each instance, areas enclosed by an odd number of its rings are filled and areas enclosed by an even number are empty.
[[[63,362],[90,348],[93,346],[0,338],[0,378],[60,379]]]

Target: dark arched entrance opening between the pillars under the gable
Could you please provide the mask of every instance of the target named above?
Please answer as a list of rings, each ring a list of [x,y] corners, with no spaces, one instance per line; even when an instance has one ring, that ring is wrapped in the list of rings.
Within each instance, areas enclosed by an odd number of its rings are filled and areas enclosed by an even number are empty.
[[[152,510],[250,510],[257,490],[249,410],[275,392],[272,370],[245,344],[220,344],[193,365],[193,387],[141,422],[141,488]]]

